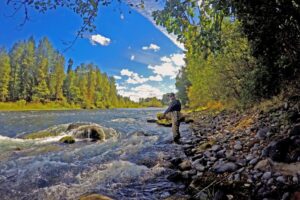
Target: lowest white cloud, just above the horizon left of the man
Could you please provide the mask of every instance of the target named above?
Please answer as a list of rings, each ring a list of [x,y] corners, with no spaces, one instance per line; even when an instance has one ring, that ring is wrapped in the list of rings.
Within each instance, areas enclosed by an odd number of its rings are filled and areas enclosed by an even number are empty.
[[[132,101],[138,102],[140,98],[151,98],[157,97],[158,99],[162,98],[163,92],[158,88],[153,87],[148,84],[143,84],[131,89],[119,89],[118,93],[121,96],[129,97]]]

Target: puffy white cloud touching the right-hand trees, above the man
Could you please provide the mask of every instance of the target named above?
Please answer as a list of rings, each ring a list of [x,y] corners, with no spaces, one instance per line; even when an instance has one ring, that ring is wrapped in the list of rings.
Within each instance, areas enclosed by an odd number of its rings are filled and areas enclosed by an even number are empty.
[[[148,68],[153,71],[154,74],[162,77],[170,77],[174,79],[179,72],[180,68],[184,66],[184,54],[171,54],[170,56],[164,56],[161,59],[161,64],[149,65]]]

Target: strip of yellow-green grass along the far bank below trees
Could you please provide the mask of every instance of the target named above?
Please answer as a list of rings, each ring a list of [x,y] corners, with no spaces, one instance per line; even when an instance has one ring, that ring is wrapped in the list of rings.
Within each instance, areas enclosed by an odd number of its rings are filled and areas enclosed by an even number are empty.
[[[26,101],[0,102],[1,111],[27,111],[27,110],[73,110],[80,109],[79,105],[64,102],[26,103]]]

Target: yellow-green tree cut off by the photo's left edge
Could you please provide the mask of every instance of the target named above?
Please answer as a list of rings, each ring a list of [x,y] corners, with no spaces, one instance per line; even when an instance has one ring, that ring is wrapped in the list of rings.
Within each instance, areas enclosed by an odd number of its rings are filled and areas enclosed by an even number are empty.
[[[5,49],[0,49],[0,101],[9,97],[10,59]]]

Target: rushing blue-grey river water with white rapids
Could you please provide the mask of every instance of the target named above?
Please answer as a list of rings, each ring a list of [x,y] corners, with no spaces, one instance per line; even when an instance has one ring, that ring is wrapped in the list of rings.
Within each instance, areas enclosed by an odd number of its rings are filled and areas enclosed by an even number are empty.
[[[165,160],[184,156],[171,128],[146,122],[161,109],[0,112],[0,199],[79,199],[98,193],[113,199],[164,199],[184,186],[167,179]],[[21,139],[92,122],[117,134],[105,141],[57,137]],[[190,134],[182,124],[183,136]]]

